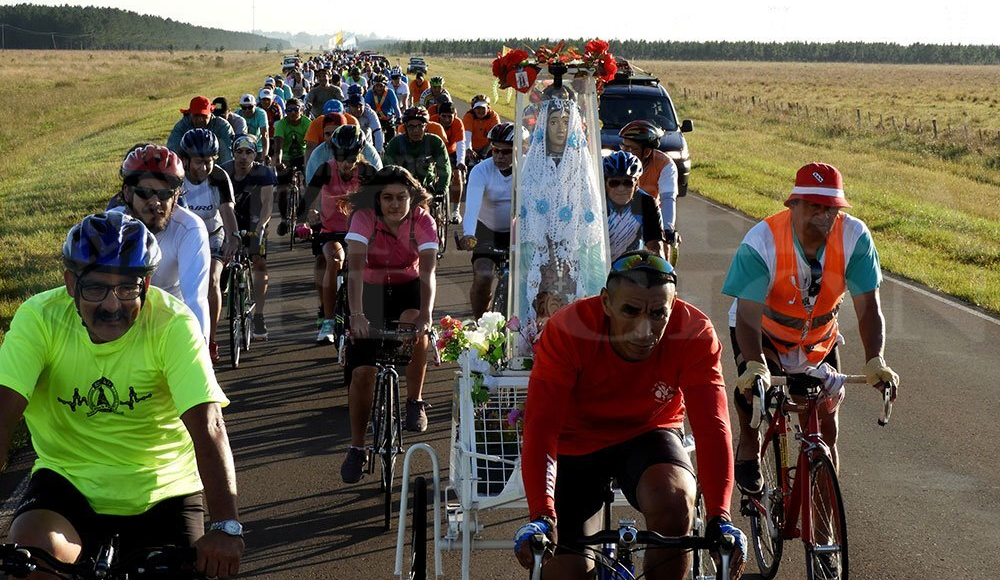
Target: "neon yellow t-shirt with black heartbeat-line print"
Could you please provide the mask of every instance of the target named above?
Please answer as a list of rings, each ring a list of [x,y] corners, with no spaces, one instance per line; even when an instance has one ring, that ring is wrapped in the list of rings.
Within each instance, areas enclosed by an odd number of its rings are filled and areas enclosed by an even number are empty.
[[[65,287],[28,299],[0,345],[0,385],[28,400],[34,470],[62,475],[109,515],[200,491],[180,415],[229,404],[194,315],[156,287],[132,328],[105,344],[90,340]]]

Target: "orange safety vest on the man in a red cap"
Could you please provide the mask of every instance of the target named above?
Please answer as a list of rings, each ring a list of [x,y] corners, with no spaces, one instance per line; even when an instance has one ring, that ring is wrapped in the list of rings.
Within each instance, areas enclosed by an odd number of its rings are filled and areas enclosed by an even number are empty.
[[[827,236],[823,278],[811,311],[806,310],[802,298],[791,210],[786,209],[764,221],[774,236],[777,267],[774,284],[764,301],[761,327],[779,353],[801,348],[810,364],[818,365],[837,343],[837,313],[847,289],[844,215],[837,216]]]

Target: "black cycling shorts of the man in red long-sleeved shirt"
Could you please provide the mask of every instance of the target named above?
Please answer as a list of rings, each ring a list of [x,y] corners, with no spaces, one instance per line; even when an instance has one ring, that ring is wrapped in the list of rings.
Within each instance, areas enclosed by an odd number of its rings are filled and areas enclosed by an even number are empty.
[[[680,429],[654,429],[623,443],[587,455],[560,455],[556,470],[557,554],[578,553],[577,540],[596,530],[585,525],[604,508],[604,490],[614,478],[629,504],[642,511],[636,497],[639,478],[650,466],[670,463],[691,472],[691,458],[684,451]],[[575,552],[574,552],[575,550]]]

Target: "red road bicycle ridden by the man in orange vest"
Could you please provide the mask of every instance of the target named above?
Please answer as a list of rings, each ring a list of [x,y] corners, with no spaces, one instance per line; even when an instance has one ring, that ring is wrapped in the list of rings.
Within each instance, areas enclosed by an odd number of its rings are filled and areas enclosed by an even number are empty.
[[[846,382],[866,380],[864,375],[848,375]],[[808,580],[849,577],[844,500],[830,448],[820,433],[817,404],[824,400],[824,390],[817,383],[805,375],[791,375],[773,377],[767,393],[759,379],[754,385],[751,427],[767,423],[760,449],[764,488],[759,494],[744,494],[740,511],[750,519],[754,557],[764,580],[777,574],[784,541],[797,537],[805,547]],[[879,425],[889,422],[894,390],[894,385],[883,386]],[[793,401],[793,396],[801,402]],[[799,441],[794,466],[787,440],[791,413],[806,417],[804,428],[801,419],[794,425],[793,435]]]

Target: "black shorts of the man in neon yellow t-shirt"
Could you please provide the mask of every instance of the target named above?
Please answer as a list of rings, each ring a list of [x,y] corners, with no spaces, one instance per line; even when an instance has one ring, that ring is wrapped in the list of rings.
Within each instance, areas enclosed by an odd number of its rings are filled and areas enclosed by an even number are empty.
[[[96,554],[115,534],[122,554],[154,546],[193,546],[205,534],[200,492],[165,499],[134,516],[98,514],[72,483],[49,469],[32,474],[14,517],[33,510],[53,511],[69,520],[83,540],[84,556]]]

